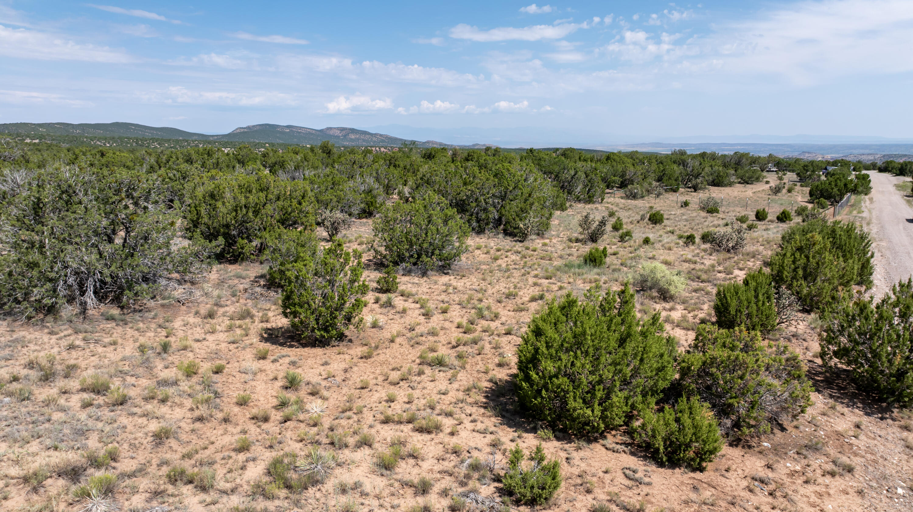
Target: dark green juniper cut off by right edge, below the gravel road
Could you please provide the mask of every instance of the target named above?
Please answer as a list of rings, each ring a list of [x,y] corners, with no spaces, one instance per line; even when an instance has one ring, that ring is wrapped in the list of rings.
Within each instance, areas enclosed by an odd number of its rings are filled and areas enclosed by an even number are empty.
[[[890,404],[913,402],[913,282],[898,282],[878,302],[855,295],[825,323],[821,360],[844,366],[859,389]]]

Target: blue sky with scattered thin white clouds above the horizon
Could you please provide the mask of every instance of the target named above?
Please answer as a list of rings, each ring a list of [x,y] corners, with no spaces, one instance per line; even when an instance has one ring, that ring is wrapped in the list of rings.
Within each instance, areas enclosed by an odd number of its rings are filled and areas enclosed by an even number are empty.
[[[909,0],[97,2],[0,0],[0,122],[913,137]]]

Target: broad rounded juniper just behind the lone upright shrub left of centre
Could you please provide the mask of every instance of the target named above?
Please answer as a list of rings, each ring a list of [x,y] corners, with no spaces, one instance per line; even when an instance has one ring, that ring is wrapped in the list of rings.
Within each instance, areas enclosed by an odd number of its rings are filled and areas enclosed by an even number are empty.
[[[317,210],[307,183],[257,172],[210,172],[187,190],[187,229],[221,241],[218,256],[247,259],[263,252],[268,231],[314,226]]]

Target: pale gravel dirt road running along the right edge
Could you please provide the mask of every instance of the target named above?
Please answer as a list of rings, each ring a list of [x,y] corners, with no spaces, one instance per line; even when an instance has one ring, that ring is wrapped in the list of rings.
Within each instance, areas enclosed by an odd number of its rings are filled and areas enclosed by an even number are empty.
[[[875,297],[913,273],[913,209],[894,185],[908,178],[869,172],[872,195],[866,198],[875,250]]]

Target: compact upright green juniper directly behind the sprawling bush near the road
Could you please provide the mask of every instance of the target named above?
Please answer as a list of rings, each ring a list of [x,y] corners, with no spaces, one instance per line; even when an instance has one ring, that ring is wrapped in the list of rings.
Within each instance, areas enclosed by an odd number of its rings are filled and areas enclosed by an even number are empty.
[[[742,282],[719,284],[713,312],[720,329],[773,331],[777,328],[777,307],[771,274],[761,269],[745,274]]]

